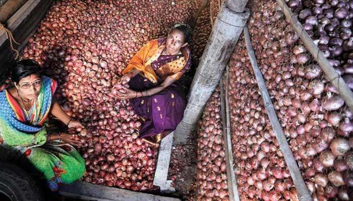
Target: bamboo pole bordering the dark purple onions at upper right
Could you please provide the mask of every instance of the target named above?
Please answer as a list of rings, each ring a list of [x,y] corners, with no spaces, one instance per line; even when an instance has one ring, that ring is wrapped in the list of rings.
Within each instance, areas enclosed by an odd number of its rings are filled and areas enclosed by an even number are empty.
[[[344,99],[345,104],[349,107],[351,111],[353,111],[353,92],[347,86],[342,77],[332,67],[330,62],[328,62],[324,54],[320,51],[314,41],[310,38],[308,33],[304,30],[302,24],[298,21],[297,16],[295,16],[290,11],[289,7],[283,2],[283,0],[276,0],[276,2],[282,9],[287,20],[290,22],[292,28],[302,39],[305,47],[309,50],[311,55],[314,57],[316,62],[324,71],[327,78],[338,89],[339,94]]]

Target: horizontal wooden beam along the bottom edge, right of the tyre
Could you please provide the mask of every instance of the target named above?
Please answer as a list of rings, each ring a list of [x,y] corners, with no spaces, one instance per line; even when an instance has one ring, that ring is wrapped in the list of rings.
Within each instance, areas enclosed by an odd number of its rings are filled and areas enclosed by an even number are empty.
[[[101,186],[82,181],[61,187],[59,194],[67,197],[97,201],[180,201],[178,198],[163,197],[160,195]]]

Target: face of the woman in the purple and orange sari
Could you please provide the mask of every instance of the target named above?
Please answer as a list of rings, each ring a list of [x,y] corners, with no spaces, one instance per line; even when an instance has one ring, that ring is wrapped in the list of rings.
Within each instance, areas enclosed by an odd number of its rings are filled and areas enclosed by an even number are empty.
[[[186,46],[188,43],[184,43],[184,34],[179,30],[173,30],[168,34],[166,41],[166,48],[168,54],[178,54],[180,48]]]

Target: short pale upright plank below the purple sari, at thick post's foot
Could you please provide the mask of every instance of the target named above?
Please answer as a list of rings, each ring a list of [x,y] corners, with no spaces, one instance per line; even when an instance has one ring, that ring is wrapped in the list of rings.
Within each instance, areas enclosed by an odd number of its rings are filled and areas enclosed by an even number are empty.
[[[175,189],[170,185],[171,181],[167,181],[173,134],[174,132],[169,133],[160,142],[157,167],[154,172],[153,185],[159,186],[163,193],[175,192]]]

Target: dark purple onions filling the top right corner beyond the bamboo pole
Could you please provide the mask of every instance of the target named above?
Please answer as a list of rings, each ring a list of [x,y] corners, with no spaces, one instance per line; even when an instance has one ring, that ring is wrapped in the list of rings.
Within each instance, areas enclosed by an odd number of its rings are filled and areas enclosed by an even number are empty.
[[[353,89],[353,1],[286,1],[337,73]]]

